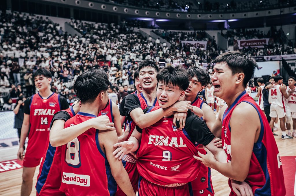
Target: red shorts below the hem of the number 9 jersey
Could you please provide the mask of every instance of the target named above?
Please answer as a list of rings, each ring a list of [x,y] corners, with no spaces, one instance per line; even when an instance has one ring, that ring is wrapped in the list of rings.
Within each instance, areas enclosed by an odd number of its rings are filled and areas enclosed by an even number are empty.
[[[179,187],[163,187],[157,184],[153,184],[146,179],[140,177],[139,182],[139,195],[155,196],[155,195],[174,195],[174,196],[186,196],[192,193],[191,186],[185,184]]]

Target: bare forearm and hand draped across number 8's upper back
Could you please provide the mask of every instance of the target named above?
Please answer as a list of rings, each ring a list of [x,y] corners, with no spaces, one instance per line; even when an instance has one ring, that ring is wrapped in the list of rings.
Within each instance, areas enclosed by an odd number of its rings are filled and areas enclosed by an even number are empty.
[[[75,126],[70,126],[67,128],[63,127],[62,130],[60,129],[61,124],[65,122],[60,120],[55,123],[57,126],[52,126],[49,132],[49,141],[53,147],[67,144],[90,128],[95,128],[98,130],[115,130],[114,123],[110,123],[110,120],[106,115],[91,118]]]

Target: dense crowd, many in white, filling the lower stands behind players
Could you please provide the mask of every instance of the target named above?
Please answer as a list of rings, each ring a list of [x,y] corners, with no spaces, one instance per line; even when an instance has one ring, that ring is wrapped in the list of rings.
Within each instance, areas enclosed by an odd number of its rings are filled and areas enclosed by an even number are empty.
[[[146,38],[127,23],[86,23],[72,19],[70,25],[81,36],[69,35],[47,17],[0,12],[0,93],[6,96],[4,102],[9,104],[9,98],[16,102],[18,98],[36,93],[38,89],[35,91],[32,74],[38,68],[46,68],[52,73],[52,90],[71,104],[75,100],[73,83],[85,70],[105,70],[110,85],[120,94],[124,86],[126,91],[133,90],[133,73],[141,60],[151,60],[160,67],[180,63],[185,67],[199,66],[211,74],[213,60],[225,52],[217,46],[215,39],[207,40],[204,31],[156,30],[155,33],[171,44],[167,46],[158,38],[155,41],[152,37]],[[243,35],[250,34],[245,31]],[[184,45],[181,40],[207,40],[207,45],[203,49]]]

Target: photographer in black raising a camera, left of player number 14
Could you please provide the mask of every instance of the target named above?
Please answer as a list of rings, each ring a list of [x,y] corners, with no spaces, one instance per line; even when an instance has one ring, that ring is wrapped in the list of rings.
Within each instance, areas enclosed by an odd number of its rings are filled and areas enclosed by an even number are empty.
[[[17,129],[17,133],[20,140],[20,132],[22,129],[22,121],[24,120],[24,104],[25,104],[25,97],[19,97],[17,101],[17,105],[15,105],[15,108],[13,110],[13,113],[15,113],[15,125],[13,128]],[[25,145],[24,145],[25,150]]]

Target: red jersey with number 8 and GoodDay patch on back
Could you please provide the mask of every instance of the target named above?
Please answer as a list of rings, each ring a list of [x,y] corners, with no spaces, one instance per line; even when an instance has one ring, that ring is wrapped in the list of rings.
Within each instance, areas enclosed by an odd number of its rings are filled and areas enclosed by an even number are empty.
[[[109,104],[105,109],[101,110],[100,115],[111,114],[111,106]],[[95,117],[96,115],[78,112],[65,123],[65,128]],[[106,155],[99,145],[98,135],[99,130],[90,128],[62,146],[62,183],[60,191],[65,192],[66,195],[115,194],[117,185],[111,174]]]

